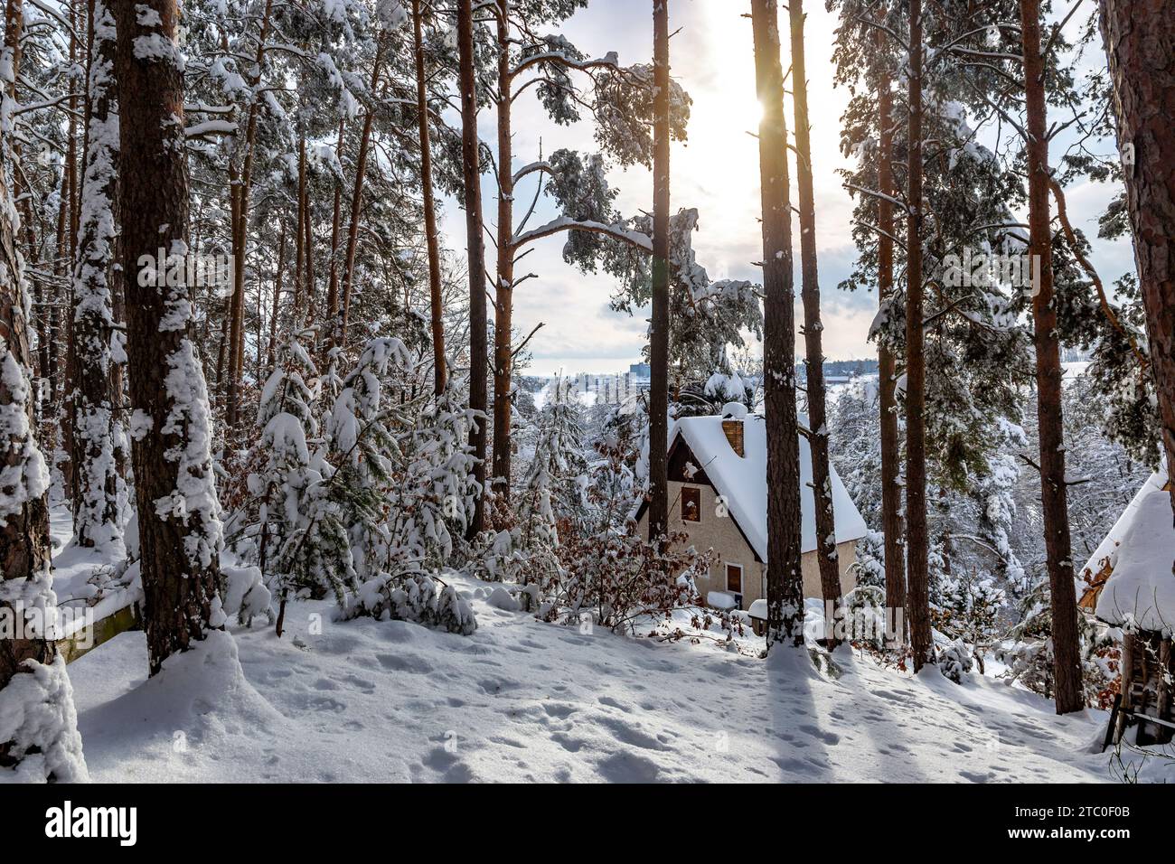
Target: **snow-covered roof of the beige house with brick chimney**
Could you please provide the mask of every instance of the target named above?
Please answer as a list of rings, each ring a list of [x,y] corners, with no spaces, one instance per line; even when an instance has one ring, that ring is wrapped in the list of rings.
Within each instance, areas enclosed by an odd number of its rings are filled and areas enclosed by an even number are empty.
[[[807,427],[807,418],[800,417]],[[721,417],[682,417],[674,423],[669,444],[682,436],[698,468],[706,473],[714,489],[724,496],[731,516],[746,535],[760,560],[767,560],[767,426],[757,414],[743,421],[743,456],[731,448],[723,431]],[[835,517],[837,542],[860,540],[867,533],[865,520],[857,510],[848,490],[830,466],[832,476],[832,509]],[[800,550],[813,551],[815,542],[815,495],[812,489],[812,450],[800,435]]]

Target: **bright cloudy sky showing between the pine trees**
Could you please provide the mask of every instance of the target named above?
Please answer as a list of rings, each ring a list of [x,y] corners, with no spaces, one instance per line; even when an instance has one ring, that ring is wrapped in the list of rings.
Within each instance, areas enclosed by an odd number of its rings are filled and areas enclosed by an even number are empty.
[[[853,201],[842,188],[837,170],[846,167],[840,154],[839,122],[848,101],[844,88],[834,88],[832,45],[834,16],[822,0],[808,0],[805,33],[808,73],[808,102],[812,110],[812,161],[815,187],[817,252],[819,256],[821,312],[825,324],[824,349],[831,360],[875,356],[868,342],[868,328],[877,308],[874,292],[850,293],[837,286],[852,269],[857,256],[851,234]],[[652,12],[647,0],[591,0],[559,27],[584,54],[619,54],[622,65],[649,62],[652,52]],[[670,63],[673,78],[693,99],[689,140],[674,142],[670,159],[672,210],[696,207],[699,230],[694,234],[698,261],[711,279],[761,281],[752,262],[761,257],[759,216],[759,152],[753,134],[758,127],[754,56],[751,21],[745,16],[750,4],[740,0],[670,0]],[[780,9],[784,28],[783,63],[790,65],[786,11]],[[532,91],[531,91],[532,92]],[[787,113],[791,125],[791,106]],[[550,154],[560,147],[595,152],[592,127],[583,121],[570,127],[556,126],[537,100],[522,96],[516,105],[515,169],[536,161],[539,148]],[[478,133],[484,141],[496,141],[492,112],[479,116]],[[794,159],[792,160],[794,183]],[[526,179],[516,190],[518,210],[533,195],[539,175]],[[647,170],[612,169],[609,179],[619,190],[622,213],[650,210],[652,179]],[[1096,215],[1113,196],[1104,186],[1075,183],[1067,189],[1070,219],[1090,237],[1096,236]],[[484,215],[492,225],[496,215],[496,187],[483,186]],[[793,192],[793,201],[794,201]],[[528,227],[553,217],[550,203],[540,205]],[[443,230],[448,245],[464,249],[464,214],[450,203]],[[583,275],[563,262],[563,236],[540,241],[526,257],[521,272],[537,279],[515,292],[515,324],[521,334],[538,323],[543,328],[530,341],[530,374],[551,375],[625,371],[640,360],[646,342],[647,310],[630,316],[609,308],[616,290],[615,280]],[[492,253],[492,249],[491,249]],[[797,242],[797,269],[799,266]],[[1133,268],[1128,241],[1094,242],[1094,263],[1110,283]],[[492,267],[492,254],[488,259]],[[797,286],[799,284],[797,273]],[[797,304],[800,320],[799,306]],[[752,339],[752,349],[761,348]]]

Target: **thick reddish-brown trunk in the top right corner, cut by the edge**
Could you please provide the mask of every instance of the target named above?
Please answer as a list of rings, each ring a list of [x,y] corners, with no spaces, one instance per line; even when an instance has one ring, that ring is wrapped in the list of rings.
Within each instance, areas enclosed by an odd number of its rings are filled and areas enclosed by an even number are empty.
[[[1122,166],[1127,212],[1175,515],[1175,9],[1170,0],[1100,6],[1119,149],[1133,149]]]

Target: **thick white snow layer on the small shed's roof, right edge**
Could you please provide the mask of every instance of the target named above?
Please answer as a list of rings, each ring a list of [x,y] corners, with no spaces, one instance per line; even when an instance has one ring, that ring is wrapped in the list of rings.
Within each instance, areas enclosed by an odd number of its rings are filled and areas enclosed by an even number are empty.
[[[1175,629],[1175,527],[1167,473],[1153,474],[1094,551],[1086,572],[1110,568],[1097,617],[1170,635]]]

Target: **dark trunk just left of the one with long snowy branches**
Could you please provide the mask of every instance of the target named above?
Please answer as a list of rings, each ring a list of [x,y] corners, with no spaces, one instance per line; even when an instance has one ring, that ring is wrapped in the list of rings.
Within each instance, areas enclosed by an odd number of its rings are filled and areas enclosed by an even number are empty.
[[[474,538],[485,527],[485,240],[482,236],[481,153],[477,140],[477,75],[474,67],[474,8],[459,0],[457,48],[461,54],[461,154],[465,180],[465,242],[469,250],[469,407],[481,416],[469,433],[477,460],[474,478],[481,491],[465,531]]]

